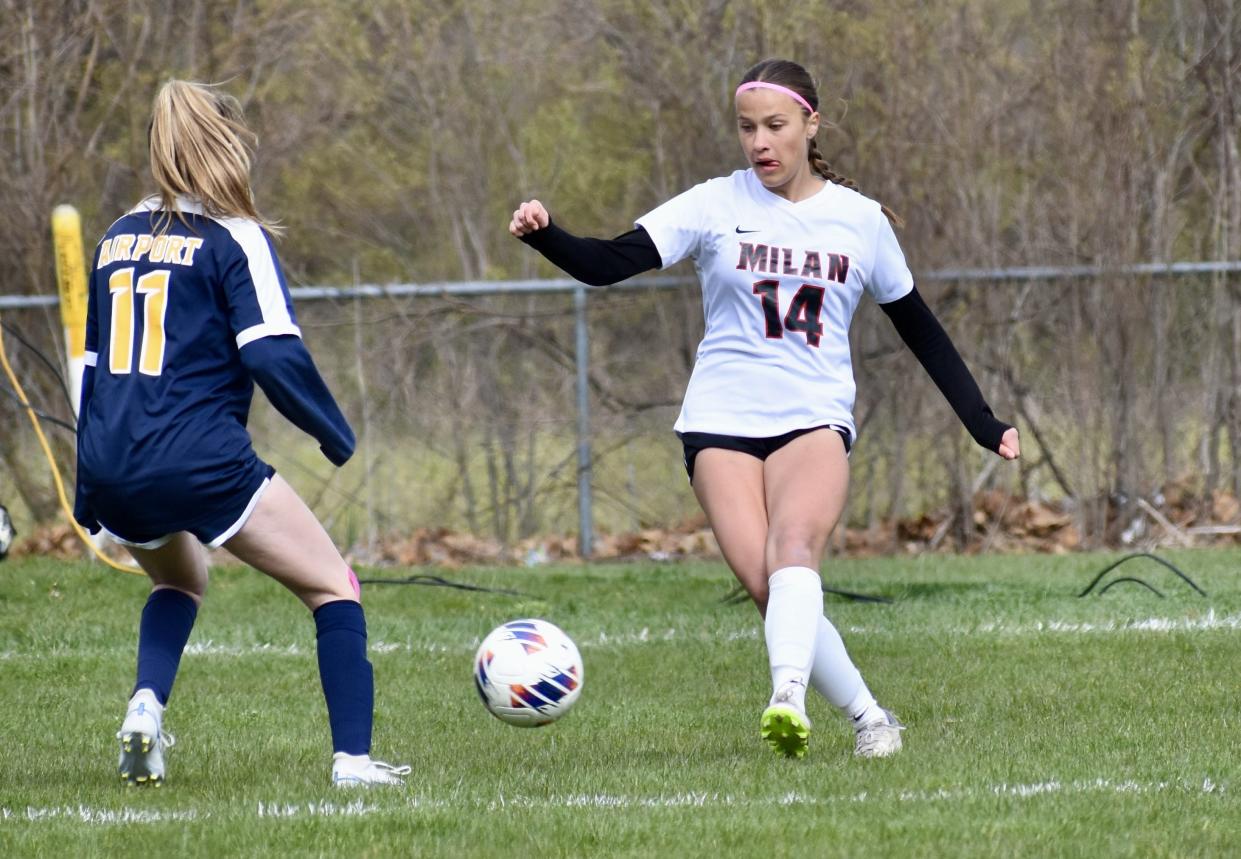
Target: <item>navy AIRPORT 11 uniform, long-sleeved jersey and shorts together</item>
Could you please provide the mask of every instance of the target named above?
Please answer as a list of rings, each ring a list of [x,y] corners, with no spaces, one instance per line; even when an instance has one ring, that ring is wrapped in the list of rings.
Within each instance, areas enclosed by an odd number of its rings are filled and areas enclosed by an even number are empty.
[[[184,222],[158,199],[120,217],[91,272],[76,514],[138,544],[241,526],[272,473],[246,431],[254,381],[329,459],[354,448],[267,232],[179,205]]]

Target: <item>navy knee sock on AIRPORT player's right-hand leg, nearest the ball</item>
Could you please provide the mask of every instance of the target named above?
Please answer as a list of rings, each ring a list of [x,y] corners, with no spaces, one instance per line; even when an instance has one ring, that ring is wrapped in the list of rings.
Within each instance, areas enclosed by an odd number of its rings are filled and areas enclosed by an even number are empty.
[[[331,750],[370,755],[375,675],[366,660],[366,616],[361,605],[338,600],[319,606],[314,611],[314,623]]]

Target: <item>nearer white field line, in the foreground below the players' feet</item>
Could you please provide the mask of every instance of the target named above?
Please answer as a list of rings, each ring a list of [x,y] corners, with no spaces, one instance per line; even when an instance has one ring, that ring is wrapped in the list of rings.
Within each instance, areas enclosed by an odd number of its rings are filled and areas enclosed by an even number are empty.
[[[813,796],[789,792],[778,796],[745,797],[719,792],[658,793],[653,796],[629,793],[566,793],[546,797],[526,794],[496,797],[464,797],[455,801],[428,797],[410,797],[398,803],[367,803],[364,799],[351,802],[259,802],[253,813],[227,811],[223,813],[197,812],[194,808],[182,811],[151,811],[134,808],[94,808],[91,806],[53,806],[41,808],[0,807],[0,824],[6,823],[47,823],[68,821],[88,825],[115,825],[132,823],[185,823],[204,819],[242,819],[242,818],[336,818],[364,817],[367,814],[403,816],[411,811],[448,809],[458,812],[496,812],[496,811],[545,811],[557,808],[587,809],[625,809],[625,808],[776,808],[776,807],[829,807],[864,802],[879,803],[934,803],[963,802],[972,799],[1033,799],[1044,796],[1080,794],[1133,794],[1153,796],[1176,793],[1181,796],[1225,796],[1229,789],[1210,777],[1198,780],[1176,780],[1160,782],[1139,782],[1133,780],[1093,778],[1061,782],[1049,780],[1033,783],[983,785],[978,787],[941,787],[922,791],[861,791],[858,793],[838,793]]]

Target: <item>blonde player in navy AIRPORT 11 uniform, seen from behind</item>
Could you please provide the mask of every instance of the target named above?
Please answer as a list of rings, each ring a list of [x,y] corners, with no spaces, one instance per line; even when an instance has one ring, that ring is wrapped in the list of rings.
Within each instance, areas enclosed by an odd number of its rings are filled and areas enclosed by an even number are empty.
[[[314,613],[333,783],[401,783],[407,767],[370,757],[374,675],[357,580],[246,432],[258,382],[333,464],[354,452],[254,209],[254,138],[235,99],[185,81],[160,88],[149,134],[159,192],[108,228],[92,266],[74,504],[74,518],[129,546],[153,583],[118,734],[120,777],[164,780],[164,706],[207,586],[204,542]]]

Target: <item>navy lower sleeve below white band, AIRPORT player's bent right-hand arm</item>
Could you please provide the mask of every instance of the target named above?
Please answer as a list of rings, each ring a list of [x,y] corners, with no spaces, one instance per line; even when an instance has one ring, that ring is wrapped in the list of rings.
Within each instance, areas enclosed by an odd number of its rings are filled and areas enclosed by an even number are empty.
[[[356,439],[349,421],[319,375],[302,338],[259,338],[241,348],[241,360],[277,411],[319,442],[333,465],[354,456]]]

